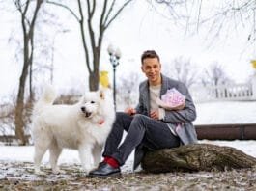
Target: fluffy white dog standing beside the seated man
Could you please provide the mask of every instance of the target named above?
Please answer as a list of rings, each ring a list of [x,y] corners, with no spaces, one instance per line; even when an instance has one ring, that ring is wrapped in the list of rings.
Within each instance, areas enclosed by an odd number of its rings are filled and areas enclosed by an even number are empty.
[[[115,120],[110,90],[86,93],[74,105],[53,105],[55,93],[48,87],[33,110],[32,137],[35,144],[35,173],[49,149],[52,172],[58,174],[58,157],[63,148],[79,151],[86,173],[100,162],[102,146]]]

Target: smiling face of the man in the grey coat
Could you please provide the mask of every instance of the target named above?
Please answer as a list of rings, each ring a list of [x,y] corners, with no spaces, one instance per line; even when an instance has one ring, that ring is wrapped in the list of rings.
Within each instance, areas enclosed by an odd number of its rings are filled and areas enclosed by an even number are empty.
[[[158,85],[161,83],[160,71],[161,64],[157,58],[146,58],[143,60],[142,71],[147,76],[150,84]]]

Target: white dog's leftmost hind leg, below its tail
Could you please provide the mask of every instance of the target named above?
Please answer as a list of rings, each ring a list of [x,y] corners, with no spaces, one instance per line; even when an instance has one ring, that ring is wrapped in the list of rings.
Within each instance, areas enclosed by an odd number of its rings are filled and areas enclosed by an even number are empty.
[[[44,153],[48,149],[47,144],[38,144],[35,143],[35,152],[34,152],[34,165],[35,165],[35,173],[38,175],[43,175],[43,172],[40,170],[40,164],[43,158]]]

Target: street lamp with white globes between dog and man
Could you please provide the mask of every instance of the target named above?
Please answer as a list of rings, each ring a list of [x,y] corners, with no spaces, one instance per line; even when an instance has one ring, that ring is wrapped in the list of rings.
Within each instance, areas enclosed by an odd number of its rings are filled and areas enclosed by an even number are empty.
[[[107,52],[110,56],[110,63],[113,67],[113,96],[114,96],[114,105],[116,111],[116,67],[119,65],[119,59],[121,58],[121,50],[119,48],[114,49],[113,45],[110,44],[107,48]]]

